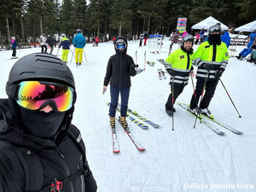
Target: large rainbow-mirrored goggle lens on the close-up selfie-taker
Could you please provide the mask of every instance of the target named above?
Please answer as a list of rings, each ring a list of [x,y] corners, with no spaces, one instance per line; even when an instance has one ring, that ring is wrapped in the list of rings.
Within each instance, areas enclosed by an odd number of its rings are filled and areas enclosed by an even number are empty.
[[[72,108],[74,90],[64,84],[39,81],[23,81],[17,91],[17,103],[30,110],[44,108],[51,103],[59,112]]]

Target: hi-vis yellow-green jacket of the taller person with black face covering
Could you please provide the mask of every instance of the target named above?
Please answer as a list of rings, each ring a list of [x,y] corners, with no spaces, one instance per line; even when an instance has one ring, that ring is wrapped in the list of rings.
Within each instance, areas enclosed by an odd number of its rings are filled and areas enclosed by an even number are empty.
[[[218,70],[224,71],[228,65],[229,52],[226,44],[221,42],[221,44],[209,44],[209,42],[204,42],[201,44],[198,49],[195,51],[194,55],[195,60],[193,61],[196,66],[198,66],[196,78],[197,79],[206,79],[207,70],[202,69],[201,65],[203,63],[210,63],[213,65],[212,70],[208,73],[208,80],[217,81],[214,77],[214,74]]]

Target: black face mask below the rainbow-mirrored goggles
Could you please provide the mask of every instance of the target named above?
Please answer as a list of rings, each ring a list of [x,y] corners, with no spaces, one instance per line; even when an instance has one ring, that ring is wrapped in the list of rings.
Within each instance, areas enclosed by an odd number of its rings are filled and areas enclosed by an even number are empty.
[[[43,111],[33,112],[20,108],[20,120],[27,133],[41,138],[50,138],[55,136],[64,119],[65,113]]]

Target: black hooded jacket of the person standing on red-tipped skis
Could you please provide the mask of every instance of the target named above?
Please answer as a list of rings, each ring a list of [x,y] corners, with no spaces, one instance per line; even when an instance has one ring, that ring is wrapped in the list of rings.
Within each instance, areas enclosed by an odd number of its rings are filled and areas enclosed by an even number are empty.
[[[126,54],[126,50],[127,41],[126,48],[123,52],[115,49],[116,54],[109,58],[104,85],[108,86],[110,81],[110,85],[114,87],[131,87],[131,76],[135,76],[137,72],[134,67],[134,61],[130,55]]]

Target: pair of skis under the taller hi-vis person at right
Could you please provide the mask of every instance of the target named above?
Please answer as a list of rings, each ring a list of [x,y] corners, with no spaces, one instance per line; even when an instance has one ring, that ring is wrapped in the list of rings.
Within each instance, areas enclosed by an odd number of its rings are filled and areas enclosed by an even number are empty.
[[[189,113],[193,114],[194,116],[196,116],[197,114],[195,113],[192,113],[190,110],[189,110],[189,106],[184,104],[184,103],[181,103],[181,102],[178,102],[177,103],[178,106],[180,106],[181,108],[185,109],[186,111],[188,111]],[[230,125],[224,125],[223,123],[220,123],[218,120],[216,119],[212,119],[212,117],[209,117],[203,113],[201,113],[200,117],[198,117],[201,122],[204,124],[204,125],[207,125],[208,128],[210,128],[212,131],[214,131],[215,133],[217,133],[218,135],[224,135],[225,132],[224,131],[220,131],[217,127],[213,126],[211,123],[209,123],[209,121],[207,120],[211,120],[213,123],[217,124],[217,125],[220,125],[222,126],[223,128],[233,132],[233,133],[236,133],[236,134],[241,134],[242,131],[238,131],[232,127],[230,127]],[[207,119],[207,120],[206,120]]]

